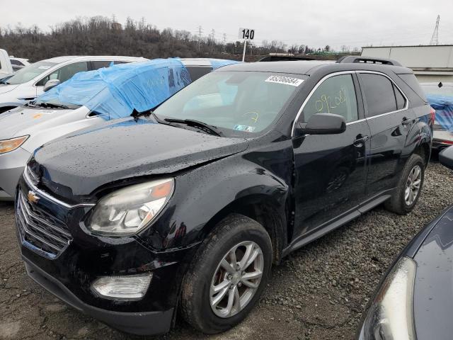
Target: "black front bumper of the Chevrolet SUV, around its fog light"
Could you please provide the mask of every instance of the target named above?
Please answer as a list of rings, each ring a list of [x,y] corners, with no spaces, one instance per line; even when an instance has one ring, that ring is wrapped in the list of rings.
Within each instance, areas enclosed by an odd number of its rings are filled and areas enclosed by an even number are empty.
[[[33,189],[21,177],[16,225],[28,275],[76,310],[113,328],[140,335],[168,331],[174,319],[180,283],[196,247],[159,252],[139,237],[92,235],[84,227],[84,217],[91,207],[66,208],[46,196],[31,203],[27,201],[27,193]],[[66,244],[60,246],[46,237],[55,229],[66,232]],[[52,236],[63,238],[62,233]],[[46,242],[58,249],[50,254],[52,249],[46,248]],[[153,276],[142,300],[109,300],[91,289],[101,276],[149,272]]]

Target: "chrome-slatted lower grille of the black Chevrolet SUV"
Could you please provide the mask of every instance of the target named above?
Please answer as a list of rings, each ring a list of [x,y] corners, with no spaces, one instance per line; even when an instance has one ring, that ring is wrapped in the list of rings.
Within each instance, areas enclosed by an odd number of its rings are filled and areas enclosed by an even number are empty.
[[[38,205],[29,203],[21,191],[18,192],[16,205],[18,232],[23,244],[55,259],[72,240],[67,225]]]

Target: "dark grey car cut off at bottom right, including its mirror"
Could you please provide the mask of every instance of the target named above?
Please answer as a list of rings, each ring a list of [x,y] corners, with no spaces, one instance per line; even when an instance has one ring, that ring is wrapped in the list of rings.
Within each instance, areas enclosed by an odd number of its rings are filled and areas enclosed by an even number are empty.
[[[453,169],[453,147],[440,152]],[[447,340],[453,324],[453,206],[426,225],[382,279],[362,322],[360,340]]]

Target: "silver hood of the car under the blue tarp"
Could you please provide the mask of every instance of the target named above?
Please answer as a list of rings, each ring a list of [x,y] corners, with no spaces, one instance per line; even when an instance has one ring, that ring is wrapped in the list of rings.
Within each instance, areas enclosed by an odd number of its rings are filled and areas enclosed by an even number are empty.
[[[99,117],[87,118],[89,112],[85,106],[76,110],[15,108],[0,114],[0,140],[30,135],[22,148],[33,152],[55,138],[104,121]]]

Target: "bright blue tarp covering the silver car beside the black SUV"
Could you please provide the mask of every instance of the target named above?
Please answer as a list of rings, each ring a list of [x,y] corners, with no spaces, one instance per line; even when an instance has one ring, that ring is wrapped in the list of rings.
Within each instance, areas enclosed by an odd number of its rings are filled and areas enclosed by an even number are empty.
[[[235,63],[211,60],[212,68]],[[36,101],[86,106],[105,120],[147,111],[190,84],[188,70],[178,58],[118,64],[80,72]]]

